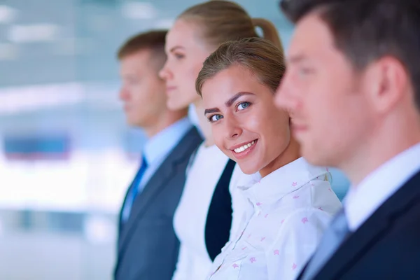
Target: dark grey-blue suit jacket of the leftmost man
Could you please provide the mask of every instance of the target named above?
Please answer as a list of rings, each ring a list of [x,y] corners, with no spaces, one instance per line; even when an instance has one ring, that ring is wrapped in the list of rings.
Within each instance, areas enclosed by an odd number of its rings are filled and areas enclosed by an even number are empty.
[[[187,132],[134,200],[129,220],[120,223],[116,280],[172,279],[179,252],[172,218],[201,142],[195,128]]]

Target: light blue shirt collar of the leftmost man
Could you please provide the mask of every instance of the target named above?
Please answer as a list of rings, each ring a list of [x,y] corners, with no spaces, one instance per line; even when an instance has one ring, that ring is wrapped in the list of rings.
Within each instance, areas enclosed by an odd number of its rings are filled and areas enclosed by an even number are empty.
[[[148,139],[144,146],[144,157],[148,165],[153,165],[153,162],[172,151],[191,127],[193,125],[191,125],[190,120],[183,118]]]

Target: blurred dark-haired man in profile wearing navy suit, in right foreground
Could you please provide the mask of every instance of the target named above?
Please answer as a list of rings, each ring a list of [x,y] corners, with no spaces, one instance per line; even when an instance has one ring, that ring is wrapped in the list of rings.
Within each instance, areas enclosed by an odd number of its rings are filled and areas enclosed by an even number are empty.
[[[351,181],[298,279],[420,279],[420,1],[284,0],[276,104],[314,165]]]

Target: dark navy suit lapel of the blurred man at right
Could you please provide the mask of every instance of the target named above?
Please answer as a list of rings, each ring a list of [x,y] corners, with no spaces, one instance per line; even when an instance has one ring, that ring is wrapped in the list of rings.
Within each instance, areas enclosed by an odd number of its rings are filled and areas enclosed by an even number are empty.
[[[367,251],[390,230],[395,221],[404,215],[420,200],[420,172],[409,179],[394,195],[374,212],[363,225],[356,230],[333,257],[328,260],[314,279],[339,279]]]

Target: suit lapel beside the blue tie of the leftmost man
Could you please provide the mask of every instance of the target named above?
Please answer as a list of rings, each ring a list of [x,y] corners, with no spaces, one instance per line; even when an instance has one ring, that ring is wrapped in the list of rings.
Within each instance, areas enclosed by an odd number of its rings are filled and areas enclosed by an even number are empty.
[[[187,153],[191,149],[190,146],[197,144],[198,141],[200,141],[200,135],[197,130],[193,128],[185,137],[183,137],[162,165],[160,165],[144,187],[142,193],[137,195],[132,206],[130,218],[128,219],[127,224],[123,225],[120,230],[119,250],[125,248],[125,244],[130,239],[130,236],[137,225],[137,220],[143,216],[146,209],[148,209],[148,206],[153,203],[154,197],[168,186],[167,182],[175,175],[176,165],[190,156],[190,153]],[[120,253],[122,252],[120,251]]]

